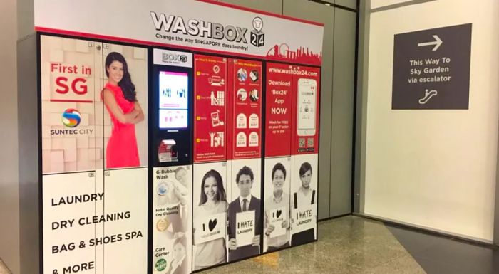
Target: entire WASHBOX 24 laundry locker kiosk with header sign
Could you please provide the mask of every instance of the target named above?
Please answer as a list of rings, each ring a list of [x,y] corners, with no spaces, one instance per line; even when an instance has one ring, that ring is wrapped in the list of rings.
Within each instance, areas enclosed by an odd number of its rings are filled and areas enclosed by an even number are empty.
[[[35,31],[24,270],[192,273],[317,240],[321,23],[44,0]]]

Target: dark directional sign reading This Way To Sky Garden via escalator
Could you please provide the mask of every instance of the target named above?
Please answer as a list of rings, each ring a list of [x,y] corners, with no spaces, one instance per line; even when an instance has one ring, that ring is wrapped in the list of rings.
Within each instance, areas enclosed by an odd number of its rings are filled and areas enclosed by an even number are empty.
[[[393,110],[467,110],[471,24],[396,34]]]

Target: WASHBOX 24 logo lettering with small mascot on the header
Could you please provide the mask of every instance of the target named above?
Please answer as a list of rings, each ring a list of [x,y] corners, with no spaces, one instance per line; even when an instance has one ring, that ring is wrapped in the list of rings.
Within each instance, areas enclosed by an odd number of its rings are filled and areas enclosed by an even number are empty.
[[[221,23],[202,21],[197,19],[188,19],[187,23],[182,16],[174,16],[166,14],[156,14],[150,11],[151,19],[153,20],[156,31],[165,31],[166,33],[182,33],[185,36],[192,38],[210,38],[213,40],[195,39],[196,44],[211,45],[211,46],[229,46],[222,45],[220,41],[235,42],[247,44],[247,28],[232,25],[222,25]],[[253,30],[250,33],[249,41],[253,46],[261,47],[265,44],[265,34],[262,32],[263,20],[259,16],[254,17]],[[163,36],[161,33],[156,33],[157,38],[166,38],[173,40],[171,36]],[[232,46],[237,47],[237,46]]]

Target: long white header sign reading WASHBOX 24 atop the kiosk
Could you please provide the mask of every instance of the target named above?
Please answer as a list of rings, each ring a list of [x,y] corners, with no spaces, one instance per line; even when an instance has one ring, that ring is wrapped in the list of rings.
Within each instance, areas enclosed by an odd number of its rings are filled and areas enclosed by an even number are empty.
[[[262,14],[216,1],[35,0],[35,26],[94,38],[124,38],[155,46],[216,51],[288,63],[321,65],[324,25]],[[179,4],[181,3],[181,4]],[[130,9],[133,6],[133,9]],[[112,13],[108,11],[112,10]],[[88,20],[99,18],[100,23]],[[53,20],[57,18],[58,20]],[[109,28],[123,18],[120,28]]]

